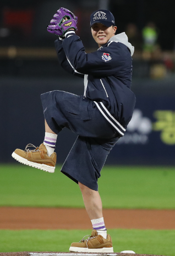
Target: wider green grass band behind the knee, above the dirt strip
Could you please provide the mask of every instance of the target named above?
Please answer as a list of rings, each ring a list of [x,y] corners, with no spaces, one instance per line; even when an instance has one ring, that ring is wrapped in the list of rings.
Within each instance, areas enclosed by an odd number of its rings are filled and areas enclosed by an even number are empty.
[[[84,207],[79,186],[60,168],[1,164],[0,206]],[[101,174],[103,208],[175,209],[175,167],[105,166]]]

